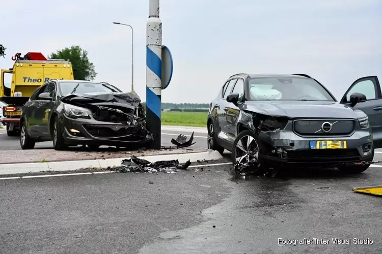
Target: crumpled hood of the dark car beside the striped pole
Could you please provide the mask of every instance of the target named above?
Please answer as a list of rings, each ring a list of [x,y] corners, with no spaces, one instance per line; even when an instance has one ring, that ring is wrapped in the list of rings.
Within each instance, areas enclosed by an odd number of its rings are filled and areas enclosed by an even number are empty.
[[[131,92],[89,92],[89,93],[73,93],[68,96],[61,97],[60,100],[67,102],[117,102],[129,104],[133,107],[138,107],[141,103],[141,98]]]

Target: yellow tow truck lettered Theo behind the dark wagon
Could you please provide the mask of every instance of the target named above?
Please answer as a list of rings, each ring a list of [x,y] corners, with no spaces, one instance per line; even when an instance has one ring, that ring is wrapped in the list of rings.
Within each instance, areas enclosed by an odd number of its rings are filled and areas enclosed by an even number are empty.
[[[1,70],[0,101],[3,107],[3,123],[7,125],[8,136],[19,135],[22,106],[33,92],[51,79],[74,79],[72,64],[63,59],[47,59],[41,52],[28,52],[24,56],[12,56],[13,68]],[[10,87],[5,86],[10,81]]]

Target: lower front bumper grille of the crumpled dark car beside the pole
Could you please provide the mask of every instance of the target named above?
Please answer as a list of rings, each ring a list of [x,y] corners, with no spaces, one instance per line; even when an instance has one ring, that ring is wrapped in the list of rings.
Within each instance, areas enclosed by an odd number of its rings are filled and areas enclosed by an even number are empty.
[[[129,126],[128,128],[113,130],[112,128],[106,126],[85,124],[84,128],[95,138],[118,138],[131,135],[130,139],[133,139],[134,137],[142,136],[142,129],[140,126]]]

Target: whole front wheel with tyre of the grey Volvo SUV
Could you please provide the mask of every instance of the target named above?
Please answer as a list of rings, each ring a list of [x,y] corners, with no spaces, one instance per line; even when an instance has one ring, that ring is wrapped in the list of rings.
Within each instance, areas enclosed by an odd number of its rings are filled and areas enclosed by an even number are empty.
[[[256,172],[262,167],[259,160],[260,145],[255,134],[249,130],[237,135],[232,148],[231,160],[236,172]]]

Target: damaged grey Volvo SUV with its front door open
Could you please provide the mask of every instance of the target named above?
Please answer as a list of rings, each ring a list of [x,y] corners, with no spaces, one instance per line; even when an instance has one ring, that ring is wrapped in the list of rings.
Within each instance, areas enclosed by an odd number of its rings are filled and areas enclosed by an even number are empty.
[[[355,81],[341,102],[306,74],[236,74],[211,102],[208,148],[232,152],[237,171],[336,167],[365,171],[382,147],[376,76]]]

